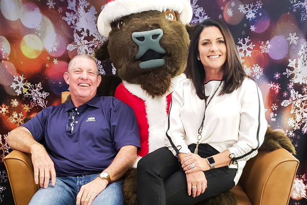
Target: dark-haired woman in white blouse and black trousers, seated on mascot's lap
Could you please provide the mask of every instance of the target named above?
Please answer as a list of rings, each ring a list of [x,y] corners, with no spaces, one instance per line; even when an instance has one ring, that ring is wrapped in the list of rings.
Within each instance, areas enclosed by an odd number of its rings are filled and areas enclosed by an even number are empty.
[[[195,204],[230,190],[264,140],[260,89],[224,24],[196,25],[186,75],[172,94],[166,147],[138,163],[138,204]]]

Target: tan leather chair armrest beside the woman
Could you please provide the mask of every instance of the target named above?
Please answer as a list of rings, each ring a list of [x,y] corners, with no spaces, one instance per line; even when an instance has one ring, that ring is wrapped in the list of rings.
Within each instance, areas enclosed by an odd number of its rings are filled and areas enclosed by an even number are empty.
[[[288,204],[299,161],[281,148],[247,161],[240,183],[252,204]]]

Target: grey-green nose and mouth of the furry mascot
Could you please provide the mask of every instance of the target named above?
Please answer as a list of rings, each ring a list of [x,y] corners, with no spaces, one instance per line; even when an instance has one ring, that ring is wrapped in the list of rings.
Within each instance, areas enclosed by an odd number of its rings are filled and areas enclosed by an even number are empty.
[[[133,41],[139,46],[139,51],[135,57],[142,61],[140,68],[155,68],[165,64],[162,57],[166,51],[160,46],[162,36],[162,29],[132,33]]]

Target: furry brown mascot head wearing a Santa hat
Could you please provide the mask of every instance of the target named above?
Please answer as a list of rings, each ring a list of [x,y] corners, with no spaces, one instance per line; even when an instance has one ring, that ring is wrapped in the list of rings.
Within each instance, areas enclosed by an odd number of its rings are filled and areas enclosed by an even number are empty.
[[[97,22],[108,40],[96,57],[109,58],[121,79],[152,98],[163,95],[185,70],[191,18],[187,0],[109,0]]]

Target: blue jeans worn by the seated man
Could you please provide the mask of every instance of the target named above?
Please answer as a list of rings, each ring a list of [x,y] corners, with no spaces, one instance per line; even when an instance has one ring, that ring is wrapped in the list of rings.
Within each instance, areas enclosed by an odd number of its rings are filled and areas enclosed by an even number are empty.
[[[60,205],[75,205],[76,197],[81,189],[81,186],[94,180],[99,174],[91,174],[86,176],[67,176],[56,177],[55,186],[51,185],[47,189],[40,188],[32,197],[29,204],[60,204]],[[117,180],[110,183],[93,201],[93,205],[118,205],[123,204],[122,181]]]

